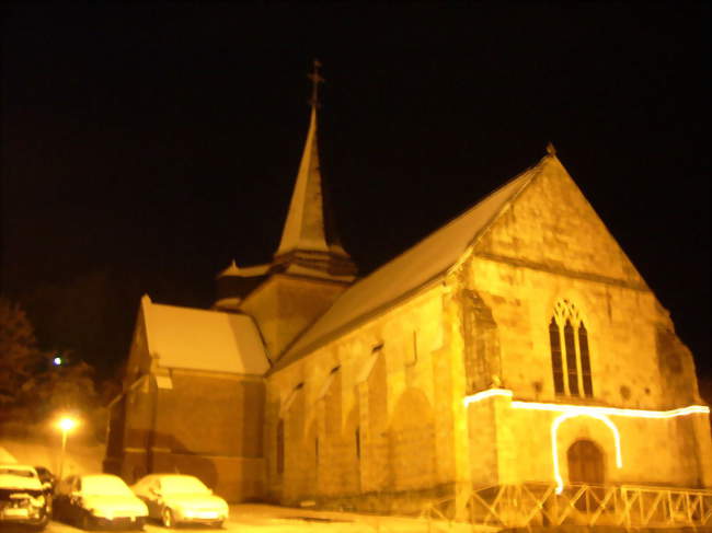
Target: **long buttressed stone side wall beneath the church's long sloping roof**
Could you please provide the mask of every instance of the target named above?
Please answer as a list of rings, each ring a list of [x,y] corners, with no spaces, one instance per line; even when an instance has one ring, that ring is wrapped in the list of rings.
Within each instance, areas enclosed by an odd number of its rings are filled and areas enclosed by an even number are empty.
[[[421,294],[271,376],[273,499],[348,507],[381,495],[383,506],[398,507],[455,483],[451,367],[433,356],[443,345],[440,297],[439,288]],[[279,416],[283,475],[275,468]]]

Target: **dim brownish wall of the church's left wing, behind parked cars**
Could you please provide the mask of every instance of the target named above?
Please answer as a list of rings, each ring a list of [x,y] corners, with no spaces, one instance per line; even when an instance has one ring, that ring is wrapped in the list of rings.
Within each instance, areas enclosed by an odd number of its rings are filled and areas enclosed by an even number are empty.
[[[147,375],[127,393],[123,453],[105,468],[127,483],[180,472],[228,501],[263,498],[262,379],[187,370],[162,378],[160,387]]]

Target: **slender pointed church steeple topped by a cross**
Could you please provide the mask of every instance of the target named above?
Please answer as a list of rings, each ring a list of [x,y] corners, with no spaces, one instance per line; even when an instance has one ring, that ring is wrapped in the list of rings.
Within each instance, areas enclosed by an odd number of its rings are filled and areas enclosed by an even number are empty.
[[[318,88],[324,81],[319,67],[321,63],[315,60],[314,70],[309,76],[313,82],[309,131],[274,264],[291,271],[299,267],[300,274],[320,278],[353,279],[356,267],[334,231],[319,164]],[[305,269],[312,271],[306,273]]]

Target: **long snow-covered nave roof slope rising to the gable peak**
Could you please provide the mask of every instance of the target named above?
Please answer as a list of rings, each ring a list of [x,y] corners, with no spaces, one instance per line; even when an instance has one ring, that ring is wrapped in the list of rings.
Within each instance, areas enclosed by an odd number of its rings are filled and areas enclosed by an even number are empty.
[[[346,290],[279,359],[284,368],[315,349],[333,335],[355,326],[366,315],[387,308],[424,283],[444,274],[486,229],[508,200],[515,197],[541,171],[550,158],[519,174],[475,206],[412,248],[387,263]]]

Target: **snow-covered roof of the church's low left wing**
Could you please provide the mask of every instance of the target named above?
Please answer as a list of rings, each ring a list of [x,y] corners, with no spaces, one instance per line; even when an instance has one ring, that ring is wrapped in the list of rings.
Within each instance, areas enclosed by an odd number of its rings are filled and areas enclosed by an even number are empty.
[[[264,374],[269,368],[257,327],[242,314],[141,301],[148,349],[163,368]]]

